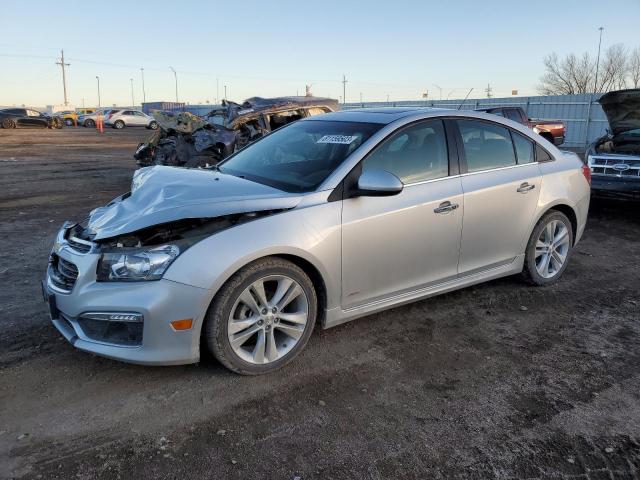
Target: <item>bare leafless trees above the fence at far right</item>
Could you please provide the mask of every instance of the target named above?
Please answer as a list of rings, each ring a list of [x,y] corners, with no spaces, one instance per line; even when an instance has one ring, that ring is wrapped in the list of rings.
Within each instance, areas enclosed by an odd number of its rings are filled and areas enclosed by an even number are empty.
[[[640,47],[629,54],[621,43],[610,46],[600,61],[597,85],[594,85],[596,61],[586,52],[581,57],[571,53],[563,58],[552,53],[545,57],[544,67],[545,73],[538,86],[542,95],[608,92],[626,88],[627,80],[638,87]]]

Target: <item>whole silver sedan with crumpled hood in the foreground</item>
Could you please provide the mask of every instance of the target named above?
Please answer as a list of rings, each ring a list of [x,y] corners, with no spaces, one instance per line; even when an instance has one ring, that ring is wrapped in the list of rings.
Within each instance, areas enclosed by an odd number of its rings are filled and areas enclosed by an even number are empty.
[[[217,167],[138,170],[67,223],[43,284],[75,347],[273,371],[333,327],[522,274],[551,285],[584,231],[589,169],[479,112],[392,108],[283,127]]]

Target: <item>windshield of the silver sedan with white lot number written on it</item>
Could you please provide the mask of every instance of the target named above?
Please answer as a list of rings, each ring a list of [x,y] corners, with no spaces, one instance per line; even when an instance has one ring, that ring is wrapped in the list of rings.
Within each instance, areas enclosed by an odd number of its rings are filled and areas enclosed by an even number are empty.
[[[287,192],[310,192],[382,125],[306,120],[240,150],[220,171]]]

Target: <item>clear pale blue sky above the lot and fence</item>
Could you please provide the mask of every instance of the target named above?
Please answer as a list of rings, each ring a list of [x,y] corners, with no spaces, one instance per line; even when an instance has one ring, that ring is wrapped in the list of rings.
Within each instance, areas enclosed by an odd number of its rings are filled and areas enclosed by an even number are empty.
[[[543,58],[640,46],[640,0],[3,2],[0,105],[216,103],[303,95],[535,95]],[[133,82],[131,81],[133,79]]]

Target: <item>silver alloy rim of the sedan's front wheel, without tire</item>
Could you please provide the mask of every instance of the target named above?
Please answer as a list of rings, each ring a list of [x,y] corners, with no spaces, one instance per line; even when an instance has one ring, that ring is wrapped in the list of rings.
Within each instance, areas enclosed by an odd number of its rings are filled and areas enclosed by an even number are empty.
[[[270,275],[249,285],[235,301],[227,323],[232,350],[253,364],[275,362],[303,336],[309,301],[291,277]]]

